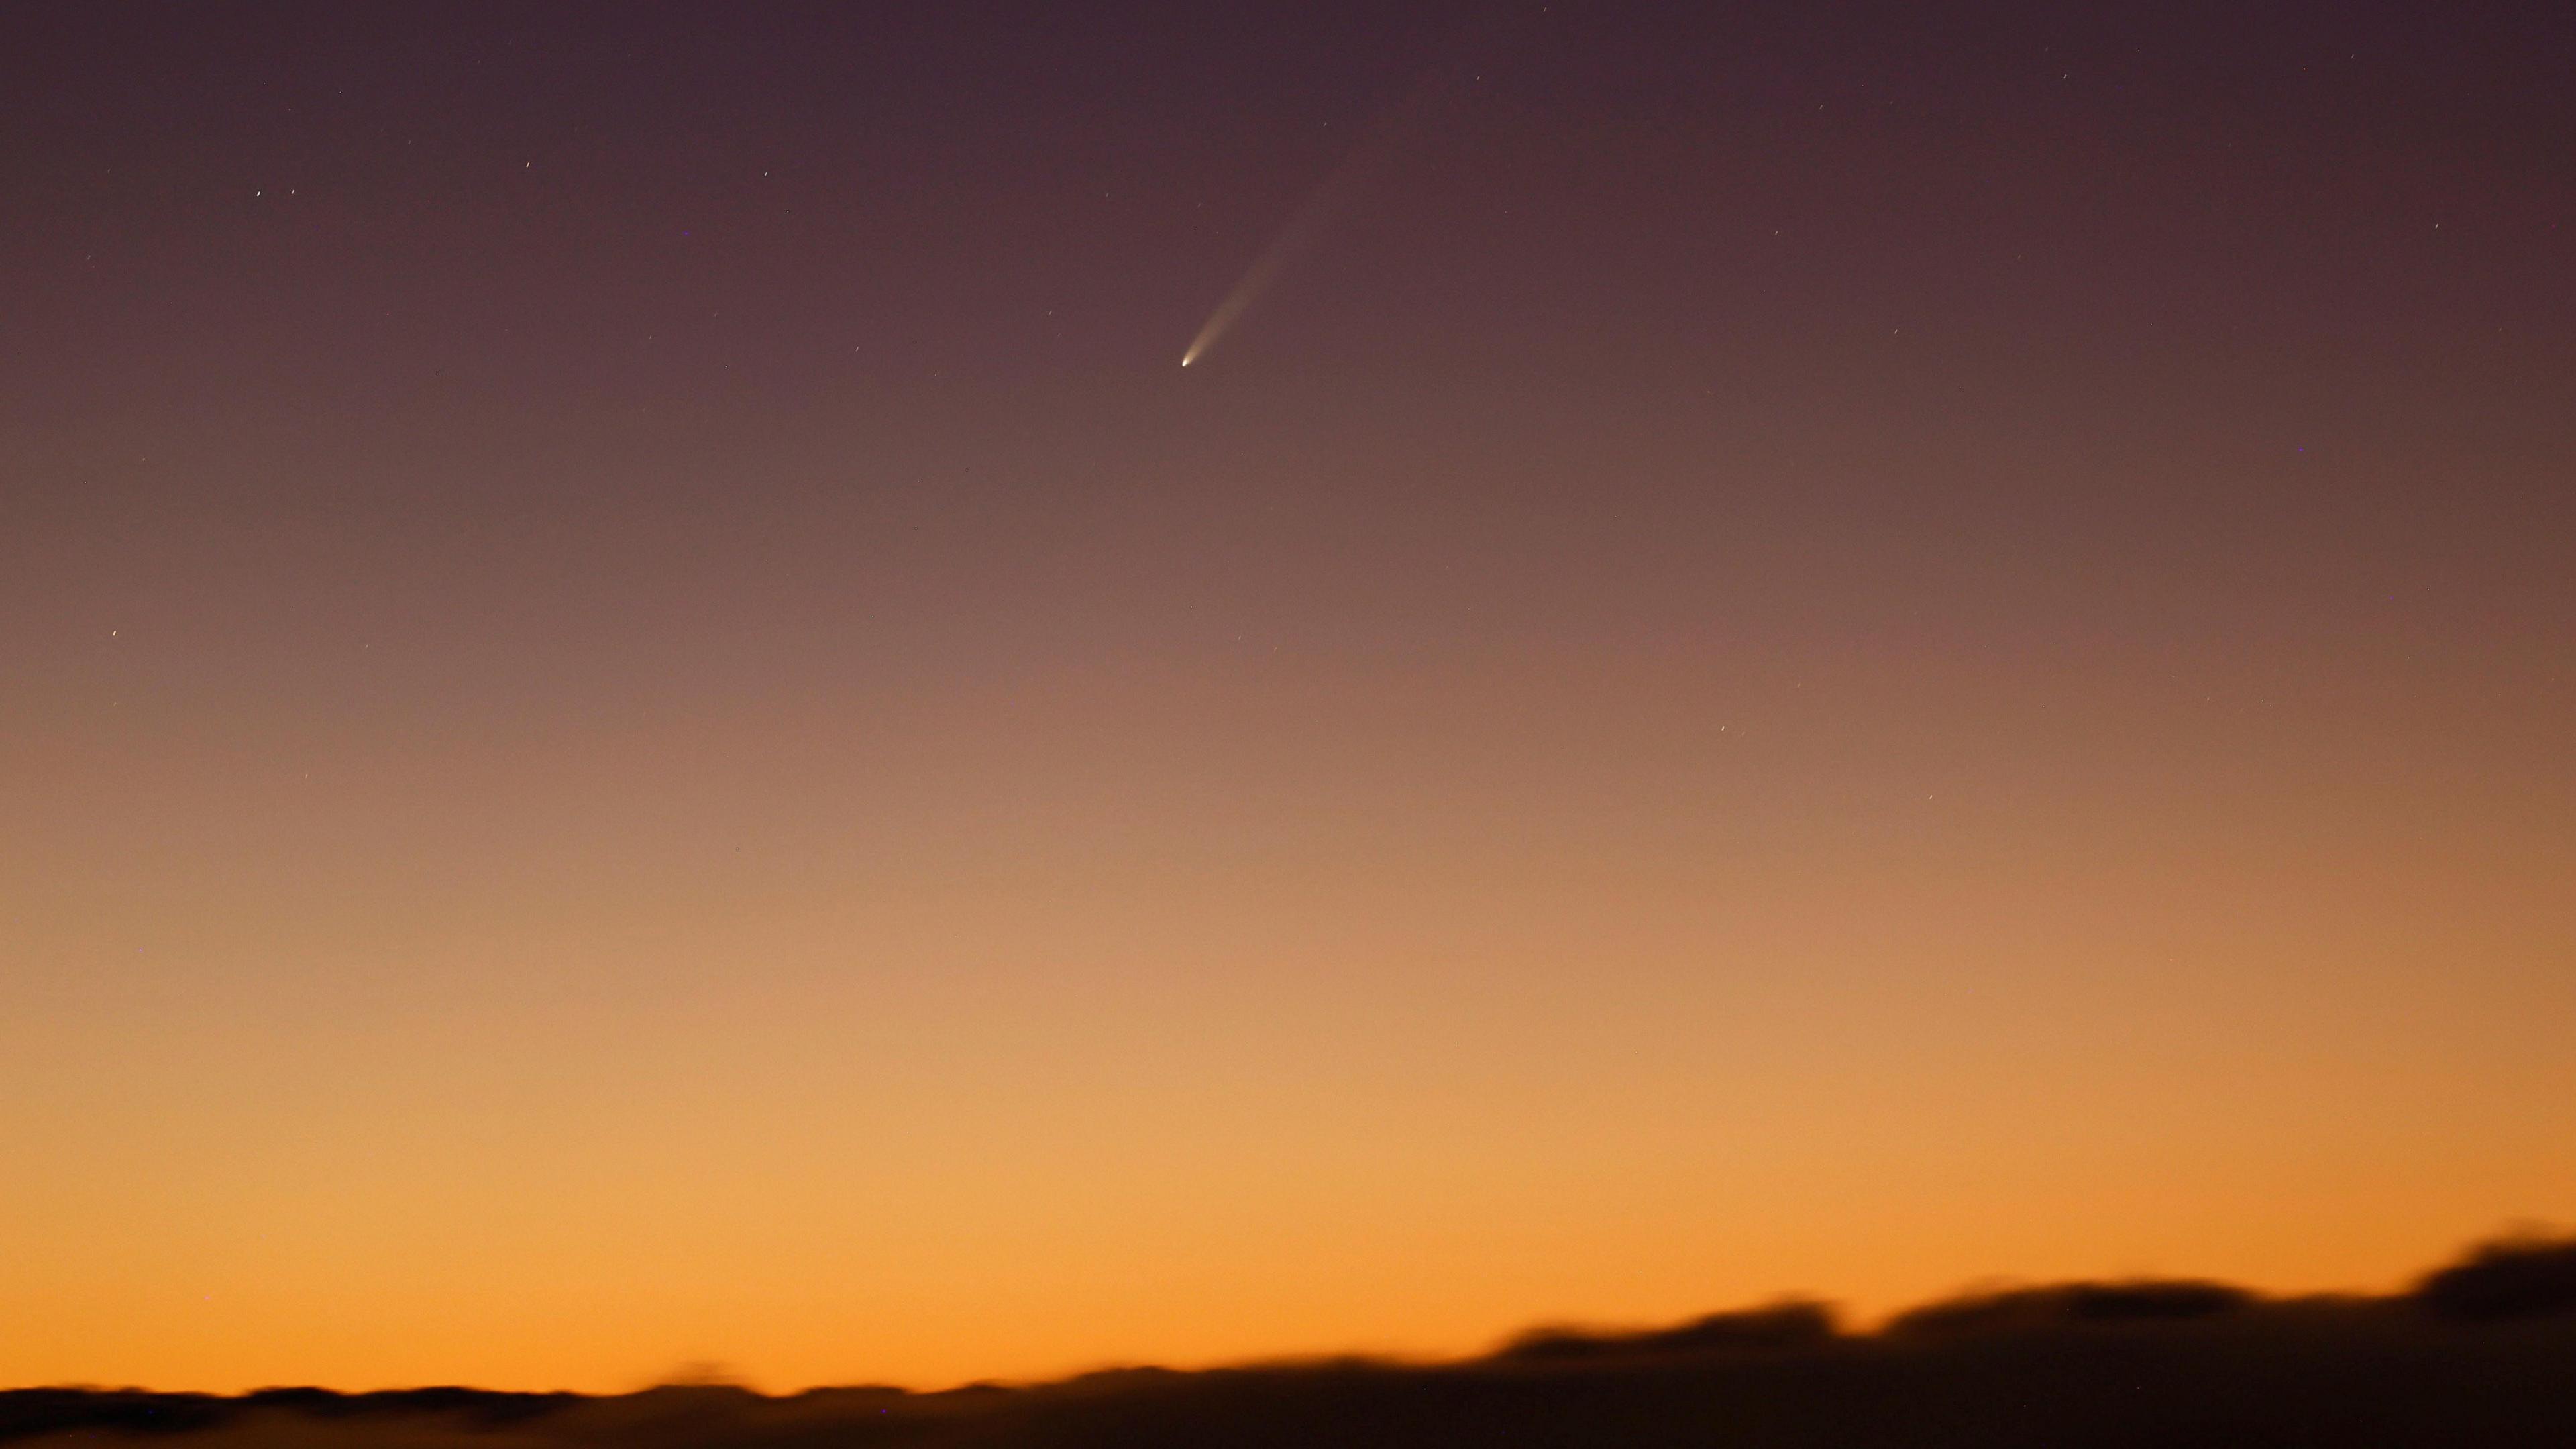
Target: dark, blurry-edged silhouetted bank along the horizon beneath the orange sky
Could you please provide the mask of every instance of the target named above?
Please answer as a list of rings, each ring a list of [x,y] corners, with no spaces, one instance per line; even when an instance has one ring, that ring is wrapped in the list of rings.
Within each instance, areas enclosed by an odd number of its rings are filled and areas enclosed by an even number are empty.
[[[2576,1444],[2576,1238],[2486,1243],[2388,1297],[2084,1281],[1873,1333],[1819,1302],[1654,1330],[1543,1328],[1450,1364],[1110,1369],[943,1392],[729,1385],[240,1397],[0,1392],[0,1441],[191,1449],[829,1446],[2272,1446]]]

